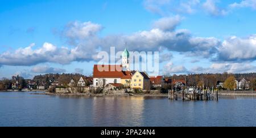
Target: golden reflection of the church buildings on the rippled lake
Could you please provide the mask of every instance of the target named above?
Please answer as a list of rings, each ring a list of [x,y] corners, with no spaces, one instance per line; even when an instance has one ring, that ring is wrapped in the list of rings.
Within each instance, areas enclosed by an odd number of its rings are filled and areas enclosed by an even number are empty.
[[[93,97],[94,126],[143,126],[144,97]]]

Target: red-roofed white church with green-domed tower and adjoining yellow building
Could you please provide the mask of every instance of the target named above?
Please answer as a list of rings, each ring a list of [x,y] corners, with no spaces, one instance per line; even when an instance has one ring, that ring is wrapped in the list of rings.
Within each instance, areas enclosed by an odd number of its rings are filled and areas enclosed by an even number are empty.
[[[105,87],[110,84],[122,85],[125,88],[149,90],[150,77],[146,72],[130,70],[129,58],[129,51],[125,48],[122,53],[122,64],[95,64],[93,67],[93,87]],[[102,68],[107,70],[100,70]]]

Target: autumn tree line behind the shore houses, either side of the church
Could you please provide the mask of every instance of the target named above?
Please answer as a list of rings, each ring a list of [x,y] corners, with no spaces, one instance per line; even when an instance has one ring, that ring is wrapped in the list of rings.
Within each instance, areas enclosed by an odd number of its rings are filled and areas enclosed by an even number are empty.
[[[16,80],[2,78],[0,80],[0,90],[7,90],[12,89],[12,85],[18,82],[18,89],[28,88],[28,82],[34,82],[35,86],[33,87],[36,89],[36,86],[40,83],[44,83],[46,89],[49,88],[51,83],[58,81],[59,84],[63,85],[63,87],[68,87],[71,79],[77,83],[80,77],[86,77],[81,74],[44,74],[44,75],[37,75],[34,76],[32,80],[24,79],[22,76],[16,77]],[[18,78],[18,79],[17,79]],[[248,73],[248,74],[230,74],[224,72],[223,74],[188,74],[188,75],[172,75],[172,76],[164,76],[164,78],[174,80],[185,80],[187,86],[189,87],[204,87],[204,88],[216,88],[217,81],[224,82],[224,87],[226,89],[231,89],[230,86],[234,87],[235,80],[246,79],[253,84],[253,89],[256,89],[256,73]],[[87,84],[86,84],[87,85]],[[171,85],[164,84],[163,87],[166,88],[173,88]]]

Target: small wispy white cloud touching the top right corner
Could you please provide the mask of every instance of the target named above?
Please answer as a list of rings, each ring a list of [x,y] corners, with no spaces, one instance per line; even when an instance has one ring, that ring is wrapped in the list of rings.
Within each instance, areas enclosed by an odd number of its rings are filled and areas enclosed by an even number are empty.
[[[256,10],[256,0],[243,0],[240,3],[232,3],[229,5],[230,8],[246,8],[250,7],[253,8],[253,10]]]

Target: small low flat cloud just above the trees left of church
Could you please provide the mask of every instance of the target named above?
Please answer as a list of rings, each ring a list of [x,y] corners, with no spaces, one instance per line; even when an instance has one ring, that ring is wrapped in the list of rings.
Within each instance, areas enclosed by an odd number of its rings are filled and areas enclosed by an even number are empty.
[[[63,72],[66,72],[66,70],[62,68],[53,68],[48,66],[36,66],[31,69],[31,72],[35,74],[47,74],[47,73],[63,73]]]

